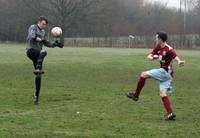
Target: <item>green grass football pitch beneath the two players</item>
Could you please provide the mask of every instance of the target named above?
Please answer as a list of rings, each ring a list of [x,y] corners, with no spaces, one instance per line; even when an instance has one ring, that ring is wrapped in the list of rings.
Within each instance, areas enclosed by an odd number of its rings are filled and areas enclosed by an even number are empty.
[[[23,45],[0,44],[0,138],[197,138],[200,134],[200,51],[177,50],[170,96],[176,121],[165,110],[158,82],[148,80],[140,100],[124,93],[141,71],[158,67],[149,49],[47,49],[41,99],[33,105],[33,67]]]

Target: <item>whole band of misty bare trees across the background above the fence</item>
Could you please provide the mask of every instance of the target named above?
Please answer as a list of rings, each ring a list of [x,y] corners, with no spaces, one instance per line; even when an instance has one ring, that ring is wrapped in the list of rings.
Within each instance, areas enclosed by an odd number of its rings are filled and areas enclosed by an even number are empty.
[[[184,5],[182,5],[184,7]],[[40,15],[61,26],[65,37],[109,37],[200,34],[200,0],[187,0],[184,8],[145,0],[0,0],[0,40],[25,41],[27,28]]]

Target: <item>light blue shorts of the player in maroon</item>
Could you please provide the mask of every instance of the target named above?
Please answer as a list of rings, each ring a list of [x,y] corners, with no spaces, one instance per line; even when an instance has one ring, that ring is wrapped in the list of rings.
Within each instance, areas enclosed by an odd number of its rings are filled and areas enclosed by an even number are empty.
[[[160,90],[166,90],[168,93],[174,92],[171,82],[172,82],[172,77],[171,77],[171,72],[167,72],[165,69],[160,68],[160,69],[152,69],[148,70],[147,74],[155,79],[160,81]]]

